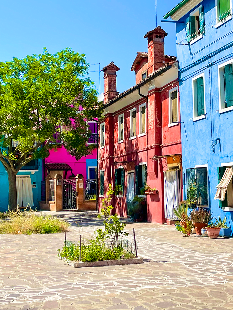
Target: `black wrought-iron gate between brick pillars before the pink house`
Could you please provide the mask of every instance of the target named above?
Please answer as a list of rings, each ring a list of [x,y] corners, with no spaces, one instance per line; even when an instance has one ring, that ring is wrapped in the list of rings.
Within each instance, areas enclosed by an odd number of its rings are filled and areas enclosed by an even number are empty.
[[[76,180],[63,179],[63,209],[77,209],[76,203]]]

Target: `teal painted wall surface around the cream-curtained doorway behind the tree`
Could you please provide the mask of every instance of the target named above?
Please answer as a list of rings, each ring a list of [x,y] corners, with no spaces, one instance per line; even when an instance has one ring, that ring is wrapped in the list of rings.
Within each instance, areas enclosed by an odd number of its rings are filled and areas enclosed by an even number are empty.
[[[30,175],[31,182],[35,182],[36,188],[32,188],[33,192],[33,201],[34,208],[37,207],[39,209],[39,201],[41,200],[41,181],[42,181],[42,160],[39,160],[39,167],[34,171],[34,174],[31,174],[31,171],[21,170],[18,172],[18,175]],[[28,167],[30,169],[30,167]],[[0,195],[0,212],[5,212],[8,206],[8,178],[7,172],[3,167],[2,163],[0,163],[0,187],[1,187],[1,195]]]

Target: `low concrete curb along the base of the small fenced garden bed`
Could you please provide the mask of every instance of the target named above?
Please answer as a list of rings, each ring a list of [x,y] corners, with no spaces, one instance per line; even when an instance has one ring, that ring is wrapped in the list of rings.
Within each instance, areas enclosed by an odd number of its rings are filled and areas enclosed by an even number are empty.
[[[112,266],[112,265],[130,265],[130,264],[142,264],[143,258],[130,258],[130,259],[113,259],[113,260],[100,260],[97,262],[74,262],[68,261],[63,258],[70,266],[74,268],[80,267],[97,267],[97,266]]]

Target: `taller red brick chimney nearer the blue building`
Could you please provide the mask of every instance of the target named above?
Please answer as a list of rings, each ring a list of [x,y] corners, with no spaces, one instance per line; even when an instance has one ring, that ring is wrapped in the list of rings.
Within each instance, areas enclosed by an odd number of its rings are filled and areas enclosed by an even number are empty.
[[[164,41],[167,33],[158,26],[144,35],[148,39],[148,75],[164,66]]]

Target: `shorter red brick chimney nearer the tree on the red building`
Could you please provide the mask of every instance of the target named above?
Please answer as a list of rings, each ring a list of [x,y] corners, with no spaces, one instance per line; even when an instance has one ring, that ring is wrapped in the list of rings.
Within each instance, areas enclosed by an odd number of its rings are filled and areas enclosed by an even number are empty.
[[[101,70],[104,72],[104,104],[119,94],[116,83],[116,71],[118,70],[120,70],[120,68],[118,68],[113,61]]]

